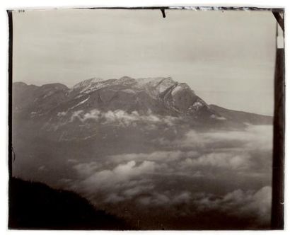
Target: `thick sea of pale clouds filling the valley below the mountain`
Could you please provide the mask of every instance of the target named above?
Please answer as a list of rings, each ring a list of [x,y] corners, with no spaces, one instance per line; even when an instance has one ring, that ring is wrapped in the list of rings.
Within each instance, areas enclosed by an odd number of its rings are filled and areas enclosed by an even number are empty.
[[[107,209],[129,205],[137,214],[151,208],[160,217],[167,211],[188,218],[221,213],[253,227],[269,225],[271,126],[189,130],[181,138],[151,141],[163,150],[108,155],[102,161],[69,159],[78,177],[66,180],[66,187]]]

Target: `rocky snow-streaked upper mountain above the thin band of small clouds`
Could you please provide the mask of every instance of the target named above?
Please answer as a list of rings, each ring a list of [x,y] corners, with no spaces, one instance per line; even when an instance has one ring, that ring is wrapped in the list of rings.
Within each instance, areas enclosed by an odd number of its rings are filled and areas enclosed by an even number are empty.
[[[43,86],[27,85],[23,82],[13,84],[13,115],[42,121],[66,117],[67,120],[78,110],[88,113],[91,110],[108,112],[123,110],[139,115],[169,115],[186,118],[190,122],[219,125],[235,122],[243,125],[269,124],[272,117],[241,113],[208,105],[184,83],[172,78],[132,79],[88,79],[72,88],[62,84]],[[247,118],[242,118],[247,116]],[[59,121],[59,120],[55,120]]]

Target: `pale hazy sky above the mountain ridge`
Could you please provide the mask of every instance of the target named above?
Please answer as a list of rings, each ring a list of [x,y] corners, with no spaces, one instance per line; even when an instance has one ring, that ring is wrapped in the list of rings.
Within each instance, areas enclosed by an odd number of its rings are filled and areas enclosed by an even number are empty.
[[[13,81],[171,76],[207,103],[272,115],[275,33],[269,11],[13,12]]]

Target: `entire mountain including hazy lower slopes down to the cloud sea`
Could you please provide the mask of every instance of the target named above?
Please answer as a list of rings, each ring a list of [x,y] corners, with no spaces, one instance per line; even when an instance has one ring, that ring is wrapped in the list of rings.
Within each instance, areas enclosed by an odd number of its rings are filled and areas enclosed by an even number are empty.
[[[208,105],[170,77],[88,79],[72,88],[17,82],[12,95],[13,172],[45,183],[66,174],[68,159],[166,150],[166,144],[160,147],[163,141],[184,138],[192,129],[272,124],[269,116]],[[42,165],[50,168],[49,177],[39,171]]]

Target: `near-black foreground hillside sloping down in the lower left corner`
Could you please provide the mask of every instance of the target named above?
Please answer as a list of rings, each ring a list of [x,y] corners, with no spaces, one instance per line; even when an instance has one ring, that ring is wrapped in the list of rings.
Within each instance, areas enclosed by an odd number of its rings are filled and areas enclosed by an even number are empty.
[[[18,178],[9,186],[9,229],[133,229],[76,193]]]

